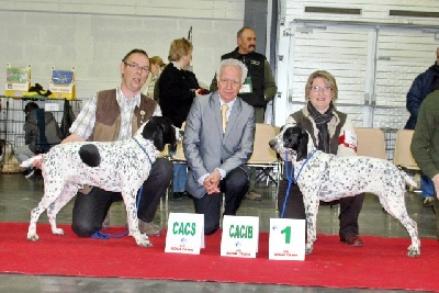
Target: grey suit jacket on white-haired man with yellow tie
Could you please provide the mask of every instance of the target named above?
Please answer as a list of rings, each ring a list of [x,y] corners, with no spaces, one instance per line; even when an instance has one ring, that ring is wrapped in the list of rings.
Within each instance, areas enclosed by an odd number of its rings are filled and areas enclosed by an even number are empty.
[[[255,140],[255,110],[236,98],[223,134],[217,92],[196,97],[184,127],[183,149],[188,160],[187,191],[201,199],[205,190],[199,179],[215,168],[229,171],[245,165]]]

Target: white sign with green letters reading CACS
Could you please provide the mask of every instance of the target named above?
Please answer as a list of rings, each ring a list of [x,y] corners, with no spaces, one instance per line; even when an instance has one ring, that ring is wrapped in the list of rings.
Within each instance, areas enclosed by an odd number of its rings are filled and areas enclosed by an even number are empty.
[[[200,255],[204,248],[204,215],[170,213],[165,252]]]

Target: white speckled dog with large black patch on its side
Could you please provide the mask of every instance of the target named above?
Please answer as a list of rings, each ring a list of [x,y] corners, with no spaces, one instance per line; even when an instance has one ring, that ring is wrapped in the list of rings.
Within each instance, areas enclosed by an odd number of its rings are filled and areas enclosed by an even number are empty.
[[[54,146],[43,155],[44,195],[31,212],[27,240],[38,240],[36,223],[47,210],[52,233],[64,235],[56,226],[56,215],[83,185],[121,192],[126,206],[130,234],[138,246],[153,246],[138,229],[136,195],[148,178],[159,151],[169,144],[175,149],[180,133],[169,119],[153,116],[140,125],[133,138],[117,142],[81,142]],[[30,160],[23,166],[32,164]]]

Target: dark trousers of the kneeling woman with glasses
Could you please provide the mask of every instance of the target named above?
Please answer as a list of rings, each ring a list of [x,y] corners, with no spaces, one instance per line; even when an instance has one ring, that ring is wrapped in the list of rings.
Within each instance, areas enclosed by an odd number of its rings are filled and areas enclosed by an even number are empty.
[[[284,218],[300,218],[306,219],[305,207],[303,204],[303,194],[296,184],[291,184],[288,200],[289,182],[286,179],[282,180],[279,185],[278,193],[278,211],[279,216]],[[339,235],[340,237],[350,237],[359,235],[358,216],[364,201],[364,193],[360,193],[356,196],[344,198],[335,202],[324,203],[322,205],[340,203],[340,214],[338,216],[340,221]]]

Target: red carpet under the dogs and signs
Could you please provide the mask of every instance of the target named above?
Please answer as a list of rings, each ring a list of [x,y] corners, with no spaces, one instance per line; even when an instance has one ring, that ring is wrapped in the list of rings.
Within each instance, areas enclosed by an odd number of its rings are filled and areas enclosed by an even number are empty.
[[[439,244],[421,240],[421,257],[405,256],[407,238],[362,236],[353,248],[338,236],[318,235],[305,261],[268,259],[268,234],[261,233],[256,259],[219,256],[221,233],[206,237],[200,256],[165,253],[165,236],[150,237],[154,248],[137,247],[132,237],[100,240],[78,238],[69,226],[65,236],[40,224],[38,243],[26,238],[27,224],[0,223],[0,273],[117,277],[272,283],[297,286],[370,288],[438,291]],[[120,234],[124,228],[112,228]]]

